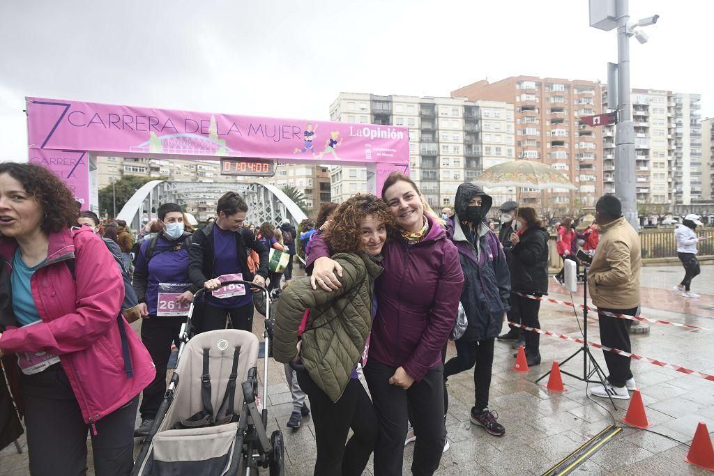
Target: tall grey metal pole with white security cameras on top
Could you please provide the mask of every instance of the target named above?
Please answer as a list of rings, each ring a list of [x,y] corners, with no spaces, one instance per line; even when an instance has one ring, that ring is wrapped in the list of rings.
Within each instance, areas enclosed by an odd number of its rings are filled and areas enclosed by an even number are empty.
[[[590,0],[590,26],[610,31],[618,29],[618,64],[608,64],[608,107],[618,112],[615,128],[615,195],[623,204],[623,215],[639,229],[635,173],[635,124],[630,101],[630,36],[641,44],[648,41],[637,28],[657,22],[659,15],[630,23],[629,0]]]

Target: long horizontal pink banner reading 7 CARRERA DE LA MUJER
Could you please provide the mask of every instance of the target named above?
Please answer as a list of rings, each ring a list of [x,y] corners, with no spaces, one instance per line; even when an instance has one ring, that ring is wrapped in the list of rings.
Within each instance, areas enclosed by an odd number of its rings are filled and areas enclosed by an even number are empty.
[[[407,128],[26,98],[29,147],[133,155],[409,162]]]

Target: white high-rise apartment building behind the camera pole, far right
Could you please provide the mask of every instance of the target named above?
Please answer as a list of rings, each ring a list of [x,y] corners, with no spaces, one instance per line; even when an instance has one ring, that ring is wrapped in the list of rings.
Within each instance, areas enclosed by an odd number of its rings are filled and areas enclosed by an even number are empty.
[[[607,101],[603,88],[603,103]],[[700,95],[633,89],[637,201],[650,213],[705,197]],[[605,193],[615,193],[615,126],[603,128]]]

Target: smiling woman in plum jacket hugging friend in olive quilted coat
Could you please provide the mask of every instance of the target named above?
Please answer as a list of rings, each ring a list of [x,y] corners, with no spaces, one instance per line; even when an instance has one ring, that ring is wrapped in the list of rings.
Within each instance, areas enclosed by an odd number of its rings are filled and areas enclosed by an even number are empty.
[[[377,314],[372,325],[365,375],[380,424],[374,452],[376,476],[401,475],[404,438],[411,407],[419,437],[411,471],[432,475],[446,443],[443,348],[456,320],[463,286],[458,250],[425,204],[416,184],[392,173],[382,198],[401,228],[401,240],[383,248],[384,272],[376,280]],[[308,268],[311,282],[325,290],[340,284],[339,265],[316,238]]]

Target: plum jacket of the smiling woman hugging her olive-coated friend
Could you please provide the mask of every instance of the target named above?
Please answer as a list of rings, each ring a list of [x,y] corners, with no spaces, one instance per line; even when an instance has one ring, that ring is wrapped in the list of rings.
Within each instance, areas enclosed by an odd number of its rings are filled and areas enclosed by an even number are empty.
[[[369,359],[403,367],[416,381],[441,364],[441,349],[456,321],[463,272],[456,246],[431,217],[416,245],[388,240],[384,272],[376,280],[378,300]],[[322,236],[313,240],[307,266],[331,255]]]

